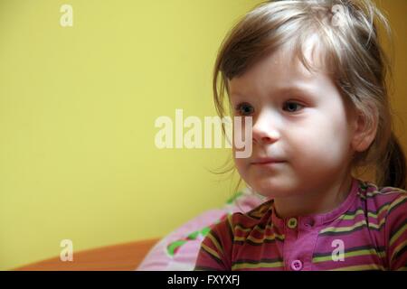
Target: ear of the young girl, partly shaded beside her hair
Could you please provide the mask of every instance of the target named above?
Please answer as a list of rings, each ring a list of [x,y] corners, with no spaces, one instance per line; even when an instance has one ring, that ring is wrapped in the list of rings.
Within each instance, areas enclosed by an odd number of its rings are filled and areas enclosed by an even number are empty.
[[[377,132],[378,117],[374,113],[375,109],[372,109],[372,122],[369,124],[367,117],[357,111],[353,119],[354,135],[352,138],[351,146],[356,152],[364,152],[373,143],[374,137]]]

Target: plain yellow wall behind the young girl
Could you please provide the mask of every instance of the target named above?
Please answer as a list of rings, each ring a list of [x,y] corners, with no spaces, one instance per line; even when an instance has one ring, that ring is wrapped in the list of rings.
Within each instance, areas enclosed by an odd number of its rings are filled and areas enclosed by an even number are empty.
[[[154,123],[176,108],[215,116],[216,52],[258,3],[0,0],[0,269],[58,256],[65,238],[76,251],[161,237],[230,197],[208,171],[229,150],[158,150]],[[407,119],[407,1],[383,7]]]

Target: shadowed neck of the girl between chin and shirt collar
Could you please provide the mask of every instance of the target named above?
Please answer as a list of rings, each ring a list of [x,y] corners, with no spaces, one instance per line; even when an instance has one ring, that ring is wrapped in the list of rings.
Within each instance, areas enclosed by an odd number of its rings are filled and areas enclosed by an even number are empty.
[[[348,174],[326,188],[317,188],[293,197],[274,198],[276,214],[284,219],[327,213],[345,201],[351,187],[352,175]]]

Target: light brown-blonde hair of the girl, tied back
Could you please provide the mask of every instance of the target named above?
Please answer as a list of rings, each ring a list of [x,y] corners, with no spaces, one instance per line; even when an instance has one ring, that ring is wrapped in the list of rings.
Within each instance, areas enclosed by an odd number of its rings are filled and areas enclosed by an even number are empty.
[[[317,34],[322,62],[342,97],[362,113],[367,127],[377,126],[374,142],[363,153],[355,154],[351,169],[373,167],[379,187],[405,189],[405,156],[393,133],[386,85],[392,66],[379,43],[377,22],[390,35],[386,18],[370,0],[282,0],[260,4],[232,28],[218,52],[213,71],[218,115],[225,116],[225,100],[231,109],[228,81],[288,42],[293,44],[299,61],[314,70],[304,56],[303,46]],[[234,166],[226,172],[233,170]]]

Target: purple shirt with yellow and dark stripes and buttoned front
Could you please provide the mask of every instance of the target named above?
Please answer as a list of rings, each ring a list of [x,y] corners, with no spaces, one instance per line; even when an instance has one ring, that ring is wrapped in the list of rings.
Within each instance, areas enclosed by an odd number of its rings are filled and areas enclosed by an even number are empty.
[[[195,270],[407,270],[407,192],[354,178],[335,210],[287,219],[268,200],[214,225]]]

